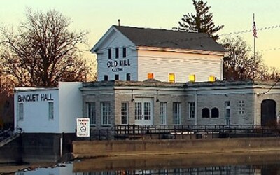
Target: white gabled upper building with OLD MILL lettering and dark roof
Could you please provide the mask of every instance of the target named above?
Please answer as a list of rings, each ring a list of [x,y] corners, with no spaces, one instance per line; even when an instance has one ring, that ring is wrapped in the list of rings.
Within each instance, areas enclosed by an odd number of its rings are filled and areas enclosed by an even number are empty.
[[[98,80],[223,80],[225,50],[207,34],[112,26],[91,50]]]

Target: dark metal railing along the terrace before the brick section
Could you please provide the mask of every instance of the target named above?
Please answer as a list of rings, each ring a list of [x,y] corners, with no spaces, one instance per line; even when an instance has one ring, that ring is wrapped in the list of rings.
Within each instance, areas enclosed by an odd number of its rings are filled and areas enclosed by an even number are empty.
[[[91,129],[90,140],[211,139],[225,137],[279,137],[280,127],[261,125],[115,125]]]

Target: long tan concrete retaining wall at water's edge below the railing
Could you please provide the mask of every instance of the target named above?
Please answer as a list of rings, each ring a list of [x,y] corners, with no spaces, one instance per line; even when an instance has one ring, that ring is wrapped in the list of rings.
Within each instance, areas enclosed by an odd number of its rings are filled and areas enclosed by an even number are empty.
[[[92,158],[110,155],[232,153],[280,151],[279,146],[279,138],[73,141],[73,154],[77,158]]]

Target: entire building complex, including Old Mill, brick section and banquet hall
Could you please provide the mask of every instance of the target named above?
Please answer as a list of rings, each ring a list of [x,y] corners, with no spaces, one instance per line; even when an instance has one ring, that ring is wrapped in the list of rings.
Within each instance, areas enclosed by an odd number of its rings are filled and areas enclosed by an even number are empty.
[[[225,50],[206,34],[113,26],[91,51],[98,81],[15,89],[15,128],[73,134],[78,117],[93,131],[279,120],[280,85],[223,80]]]

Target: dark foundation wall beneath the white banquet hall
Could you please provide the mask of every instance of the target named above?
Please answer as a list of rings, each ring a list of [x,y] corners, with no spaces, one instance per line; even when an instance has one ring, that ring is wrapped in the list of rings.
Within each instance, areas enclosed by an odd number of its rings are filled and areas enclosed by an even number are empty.
[[[72,152],[74,137],[75,134],[22,133],[0,147],[0,163],[57,162],[61,155]]]

